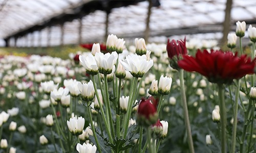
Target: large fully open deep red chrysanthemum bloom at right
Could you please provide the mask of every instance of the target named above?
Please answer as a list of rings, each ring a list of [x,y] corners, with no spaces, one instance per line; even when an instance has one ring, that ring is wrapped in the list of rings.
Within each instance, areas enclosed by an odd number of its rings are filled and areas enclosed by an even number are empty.
[[[204,75],[209,82],[230,84],[233,79],[240,79],[246,74],[252,74],[255,60],[246,55],[238,57],[238,53],[223,52],[221,50],[198,49],[196,57],[184,55],[178,62],[180,68],[189,72],[198,72]]]

